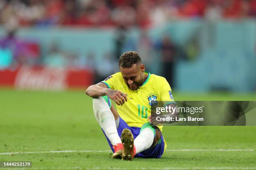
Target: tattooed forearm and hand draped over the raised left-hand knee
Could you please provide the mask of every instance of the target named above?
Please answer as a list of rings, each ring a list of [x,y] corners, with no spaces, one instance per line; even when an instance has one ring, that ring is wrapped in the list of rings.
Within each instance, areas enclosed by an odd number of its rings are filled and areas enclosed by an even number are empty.
[[[117,105],[123,105],[125,101],[127,102],[126,94],[120,92],[119,90],[109,89],[108,86],[103,82],[99,82],[96,85],[91,85],[86,89],[85,93],[93,98],[107,95]]]

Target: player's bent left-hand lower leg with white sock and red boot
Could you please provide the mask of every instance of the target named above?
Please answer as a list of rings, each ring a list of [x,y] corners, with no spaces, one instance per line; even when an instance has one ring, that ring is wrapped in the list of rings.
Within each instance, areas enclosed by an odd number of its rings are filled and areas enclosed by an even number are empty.
[[[118,121],[119,116],[117,116],[118,113],[116,111],[113,114],[111,110],[114,110],[114,108],[111,106],[111,101],[110,105],[108,104],[108,100],[108,97],[107,100],[105,100],[104,97],[97,97],[92,100],[92,103],[97,122],[99,123],[107,138],[110,140],[110,143],[113,145],[115,150],[113,158],[116,158],[121,156],[123,145],[117,131],[117,125],[119,122],[116,122],[115,120],[115,117],[117,117]],[[112,107],[111,110],[110,107]]]

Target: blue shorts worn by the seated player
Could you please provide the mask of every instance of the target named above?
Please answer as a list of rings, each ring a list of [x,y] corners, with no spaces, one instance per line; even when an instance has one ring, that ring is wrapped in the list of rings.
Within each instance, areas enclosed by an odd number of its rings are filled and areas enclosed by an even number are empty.
[[[128,128],[129,130],[131,130],[131,132],[133,133],[133,137],[134,139],[140,134],[140,130],[141,128],[138,127],[129,127],[127,125],[127,123],[120,117],[120,122],[119,122],[119,127],[118,127],[118,135],[121,137],[122,131],[124,128]],[[157,128],[155,126],[155,128]],[[102,130],[103,131],[103,130]],[[104,131],[103,131],[104,133]],[[106,136],[106,134],[104,133],[104,135]],[[113,145],[110,143],[110,140],[108,139],[108,137],[106,136],[107,140],[108,140],[108,144],[110,145],[111,150],[114,153],[114,149],[113,149]],[[134,157],[135,158],[161,158],[161,156],[164,153],[164,138],[163,135],[161,134],[161,139],[159,140],[159,142],[154,145],[151,148],[148,148],[147,150],[144,150],[141,153],[136,154]]]

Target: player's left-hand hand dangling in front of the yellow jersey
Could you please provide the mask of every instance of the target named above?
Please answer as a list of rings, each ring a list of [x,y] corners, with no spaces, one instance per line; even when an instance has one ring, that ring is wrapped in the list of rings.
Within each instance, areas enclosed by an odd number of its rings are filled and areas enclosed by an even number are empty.
[[[106,89],[106,95],[117,105],[123,105],[127,102],[127,94],[120,92],[119,90]]]

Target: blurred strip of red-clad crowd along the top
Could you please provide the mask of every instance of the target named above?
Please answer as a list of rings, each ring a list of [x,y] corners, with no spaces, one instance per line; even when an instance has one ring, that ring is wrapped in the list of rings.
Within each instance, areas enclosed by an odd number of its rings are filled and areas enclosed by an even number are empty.
[[[256,16],[256,0],[0,0],[0,24],[138,26],[176,18]]]

